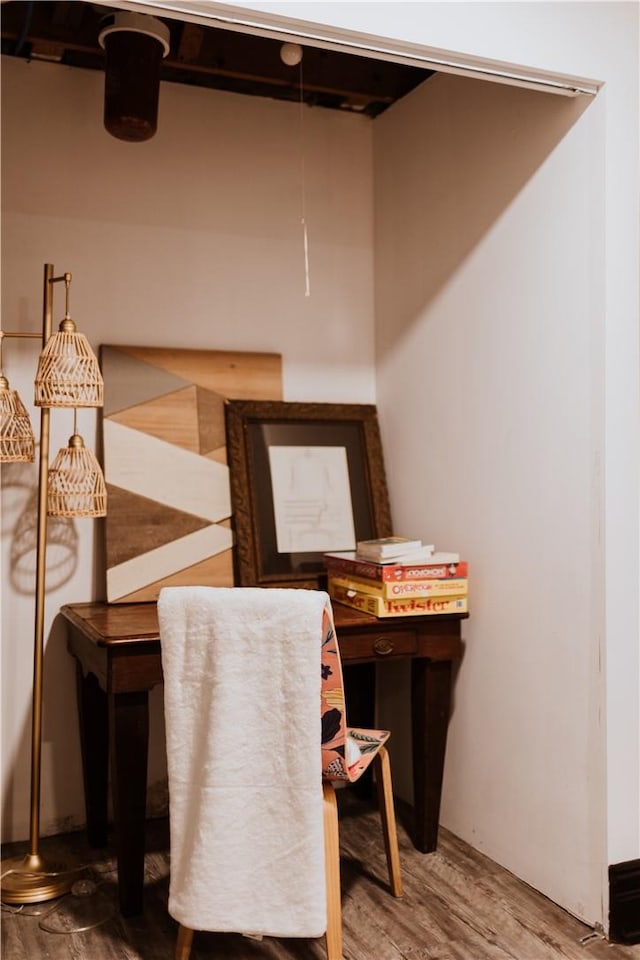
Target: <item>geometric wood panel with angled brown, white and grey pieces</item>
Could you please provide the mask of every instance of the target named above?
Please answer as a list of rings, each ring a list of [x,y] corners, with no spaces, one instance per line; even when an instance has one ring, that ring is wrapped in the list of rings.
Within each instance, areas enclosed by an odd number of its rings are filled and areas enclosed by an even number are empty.
[[[226,399],[281,400],[274,353],[104,345],[109,603],[233,585]]]

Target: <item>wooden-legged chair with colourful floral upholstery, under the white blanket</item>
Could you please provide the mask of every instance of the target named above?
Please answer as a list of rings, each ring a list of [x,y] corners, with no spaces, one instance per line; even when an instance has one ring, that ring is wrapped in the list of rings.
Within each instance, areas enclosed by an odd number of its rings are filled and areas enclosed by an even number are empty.
[[[394,897],[402,896],[393,790],[389,755],[384,744],[389,732],[351,728],[346,723],[342,666],[331,605],[327,598],[322,624],[322,791],[327,899],[327,960],[342,960],[342,906],[338,808],[335,783],[353,783],[373,763],[389,886]],[[189,960],[194,930],[179,925],[175,960]]]

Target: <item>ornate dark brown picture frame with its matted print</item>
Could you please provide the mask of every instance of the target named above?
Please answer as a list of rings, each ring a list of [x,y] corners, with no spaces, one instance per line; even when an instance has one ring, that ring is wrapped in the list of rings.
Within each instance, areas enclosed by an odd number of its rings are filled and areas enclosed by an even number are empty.
[[[323,554],[391,534],[376,408],[225,404],[239,586],[323,587]]]

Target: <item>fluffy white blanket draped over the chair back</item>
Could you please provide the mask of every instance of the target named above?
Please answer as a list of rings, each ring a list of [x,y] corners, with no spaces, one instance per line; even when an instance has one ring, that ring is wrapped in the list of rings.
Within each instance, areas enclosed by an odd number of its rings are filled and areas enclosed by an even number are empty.
[[[320,664],[327,594],[165,587],[169,912],[194,930],[326,930]]]

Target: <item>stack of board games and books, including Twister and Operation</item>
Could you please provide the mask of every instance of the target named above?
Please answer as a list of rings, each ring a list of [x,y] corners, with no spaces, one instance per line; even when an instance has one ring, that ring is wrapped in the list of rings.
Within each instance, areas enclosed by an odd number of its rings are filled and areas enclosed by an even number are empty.
[[[325,553],[329,595],[376,617],[468,613],[468,564],[419,540],[386,537]]]

